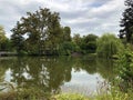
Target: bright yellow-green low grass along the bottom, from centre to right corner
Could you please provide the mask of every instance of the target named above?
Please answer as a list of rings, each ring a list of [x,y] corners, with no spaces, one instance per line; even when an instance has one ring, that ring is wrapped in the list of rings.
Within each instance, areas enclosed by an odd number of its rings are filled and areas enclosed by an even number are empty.
[[[90,97],[85,97],[83,94],[78,93],[61,93],[54,96],[50,100],[132,100],[133,96],[129,96],[129,93],[122,93],[120,91],[111,92],[108,94],[94,94]]]

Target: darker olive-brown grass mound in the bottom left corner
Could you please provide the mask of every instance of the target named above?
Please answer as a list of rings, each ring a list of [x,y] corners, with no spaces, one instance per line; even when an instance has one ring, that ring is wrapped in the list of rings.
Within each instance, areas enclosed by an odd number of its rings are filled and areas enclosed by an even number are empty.
[[[39,89],[19,89],[0,92],[0,100],[49,100],[50,93]]]

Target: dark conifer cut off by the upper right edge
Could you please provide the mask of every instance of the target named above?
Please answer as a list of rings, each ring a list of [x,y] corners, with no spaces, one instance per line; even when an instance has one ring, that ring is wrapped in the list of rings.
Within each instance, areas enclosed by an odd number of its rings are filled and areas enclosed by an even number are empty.
[[[120,38],[126,38],[126,42],[133,43],[133,0],[125,0],[126,9],[121,19]]]

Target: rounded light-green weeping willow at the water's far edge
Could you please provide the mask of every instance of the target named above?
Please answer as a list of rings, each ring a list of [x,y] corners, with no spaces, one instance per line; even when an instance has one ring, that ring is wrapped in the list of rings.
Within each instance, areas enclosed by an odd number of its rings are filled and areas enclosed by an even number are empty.
[[[96,53],[99,57],[112,58],[112,56],[123,51],[123,44],[114,34],[105,33],[98,39]]]

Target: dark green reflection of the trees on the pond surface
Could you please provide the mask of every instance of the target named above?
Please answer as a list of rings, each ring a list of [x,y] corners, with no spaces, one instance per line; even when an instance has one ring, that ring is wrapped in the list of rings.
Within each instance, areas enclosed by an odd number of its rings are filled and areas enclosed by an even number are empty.
[[[90,59],[86,57],[23,57],[0,59],[1,82],[10,69],[10,82],[18,88],[34,88],[44,92],[58,93],[61,86],[71,81],[72,69],[84,70],[89,74],[100,73],[104,79],[114,78],[111,60]]]

